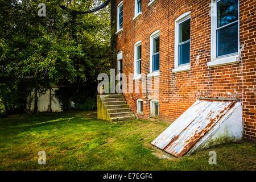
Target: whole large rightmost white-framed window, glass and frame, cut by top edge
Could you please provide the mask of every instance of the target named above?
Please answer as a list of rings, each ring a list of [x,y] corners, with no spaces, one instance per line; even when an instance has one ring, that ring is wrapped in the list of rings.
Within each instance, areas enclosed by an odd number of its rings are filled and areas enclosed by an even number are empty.
[[[212,0],[211,61],[208,66],[239,62],[239,1]]]

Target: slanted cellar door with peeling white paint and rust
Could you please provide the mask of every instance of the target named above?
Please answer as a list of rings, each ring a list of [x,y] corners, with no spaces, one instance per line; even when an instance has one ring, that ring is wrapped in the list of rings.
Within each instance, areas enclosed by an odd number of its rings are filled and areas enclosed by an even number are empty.
[[[196,101],[152,144],[180,158],[212,130],[235,104],[230,101]]]

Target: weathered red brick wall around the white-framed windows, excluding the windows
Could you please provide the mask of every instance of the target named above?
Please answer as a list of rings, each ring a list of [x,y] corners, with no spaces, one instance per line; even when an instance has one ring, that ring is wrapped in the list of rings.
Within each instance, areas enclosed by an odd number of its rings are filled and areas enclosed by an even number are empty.
[[[117,52],[123,52],[123,73],[127,77],[134,73],[134,44],[139,40],[142,41],[142,73],[150,72],[150,35],[160,30],[160,119],[175,121],[199,96],[237,94],[243,103],[243,136],[256,140],[256,1],[240,0],[240,45],[244,44],[240,63],[213,68],[207,66],[211,1],[156,0],[150,7],[148,2],[142,0],[142,15],[133,20],[134,0],[123,0],[123,31],[117,35]],[[187,11],[191,11],[191,70],[172,73],[175,19]],[[200,59],[196,61],[198,55]],[[150,118],[147,94],[127,93],[125,97],[134,112],[138,98],[146,101],[144,114],[139,117]]]

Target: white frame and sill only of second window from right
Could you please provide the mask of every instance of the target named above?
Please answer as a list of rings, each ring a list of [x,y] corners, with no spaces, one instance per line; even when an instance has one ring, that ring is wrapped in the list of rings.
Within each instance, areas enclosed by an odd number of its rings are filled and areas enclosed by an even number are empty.
[[[182,15],[180,15],[175,20],[175,39],[174,39],[174,69],[172,69],[172,73],[184,72],[190,70],[191,62],[188,64],[179,65],[179,24],[184,22],[185,20],[191,18],[191,11],[188,11]]]

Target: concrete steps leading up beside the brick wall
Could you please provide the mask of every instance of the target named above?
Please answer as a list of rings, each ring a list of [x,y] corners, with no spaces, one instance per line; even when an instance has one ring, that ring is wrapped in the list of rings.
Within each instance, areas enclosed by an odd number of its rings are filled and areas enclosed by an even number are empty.
[[[121,94],[98,96],[98,119],[125,121],[136,119]]]

